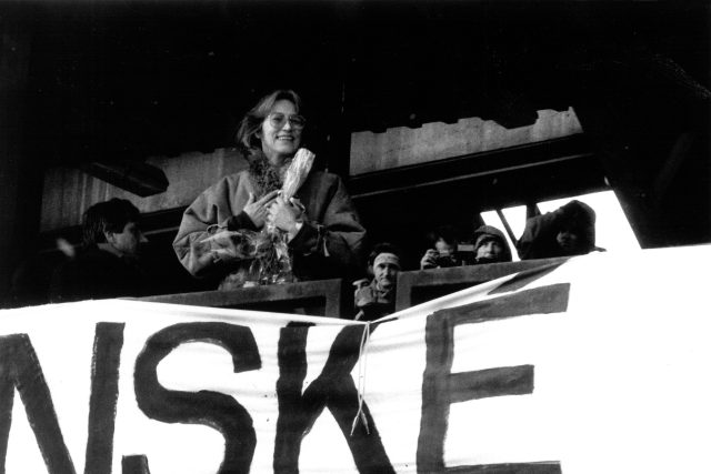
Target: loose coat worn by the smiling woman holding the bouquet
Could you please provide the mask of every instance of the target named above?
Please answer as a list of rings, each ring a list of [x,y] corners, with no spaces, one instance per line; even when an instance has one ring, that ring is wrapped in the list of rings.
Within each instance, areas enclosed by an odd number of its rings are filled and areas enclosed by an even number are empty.
[[[259,198],[249,170],[230,174],[207,189],[186,210],[173,249],[180,263],[194,276],[234,271],[200,258],[196,244],[208,236],[209,225],[230,231],[256,230],[242,211],[249,194]],[[331,173],[311,171],[296,196],[306,208],[308,221],[289,242],[293,272],[299,280],[346,276],[361,266],[365,229],[341,179]],[[249,262],[242,262],[248,265]],[[239,266],[239,262],[238,262]]]

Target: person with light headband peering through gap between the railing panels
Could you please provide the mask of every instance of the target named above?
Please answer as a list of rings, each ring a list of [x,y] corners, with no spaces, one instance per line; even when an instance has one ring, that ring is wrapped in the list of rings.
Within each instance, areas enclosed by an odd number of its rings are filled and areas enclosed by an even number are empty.
[[[395,309],[398,273],[402,269],[400,250],[388,242],[373,246],[368,256],[373,279],[359,280],[356,288],[356,320],[372,321],[391,314]]]

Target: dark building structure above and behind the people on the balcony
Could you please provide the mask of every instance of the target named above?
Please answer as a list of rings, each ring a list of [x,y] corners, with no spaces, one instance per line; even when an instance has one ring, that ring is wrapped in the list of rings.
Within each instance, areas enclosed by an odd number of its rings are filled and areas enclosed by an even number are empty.
[[[605,189],[643,248],[711,240],[705,2],[0,11],[2,294],[23,260],[78,240],[82,209],[121,193],[144,212],[163,291],[203,289],[168,243],[200,179],[239,168],[233,128],[276,87],[310,103],[317,167],[346,179],[373,241],[417,253],[412,236],[439,223]]]

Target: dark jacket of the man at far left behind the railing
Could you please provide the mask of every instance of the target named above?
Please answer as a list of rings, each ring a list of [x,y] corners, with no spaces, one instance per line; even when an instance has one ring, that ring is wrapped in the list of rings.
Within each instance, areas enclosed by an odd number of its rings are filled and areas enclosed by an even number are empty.
[[[61,303],[146,294],[146,275],[130,258],[90,245],[52,274],[49,301]]]

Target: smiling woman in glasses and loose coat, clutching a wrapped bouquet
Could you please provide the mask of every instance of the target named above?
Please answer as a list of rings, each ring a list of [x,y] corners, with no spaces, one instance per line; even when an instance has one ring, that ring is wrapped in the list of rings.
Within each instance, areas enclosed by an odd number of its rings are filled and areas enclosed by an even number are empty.
[[[178,259],[193,276],[217,273],[228,276],[221,289],[241,286],[240,273],[249,271],[250,261],[224,264],[210,253],[200,254],[197,244],[209,235],[209,226],[260,231],[268,219],[288,234],[297,280],[358,272],[365,229],[338,175],[311,170],[293,201],[284,202],[278,195],[302,143],[307,120],[301,109],[296,92],[277,90],[242,119],[236,139],[249,169],[224,177],[202,192],[183,213],[173,241]]]

